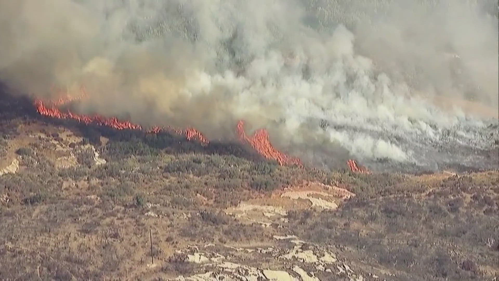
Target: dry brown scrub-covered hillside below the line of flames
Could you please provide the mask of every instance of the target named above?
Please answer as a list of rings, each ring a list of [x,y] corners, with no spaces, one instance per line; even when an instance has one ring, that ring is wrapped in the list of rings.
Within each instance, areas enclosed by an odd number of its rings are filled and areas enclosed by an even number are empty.
[[[279,165],[0,102],[0,280],[499,277],[497,170]]]

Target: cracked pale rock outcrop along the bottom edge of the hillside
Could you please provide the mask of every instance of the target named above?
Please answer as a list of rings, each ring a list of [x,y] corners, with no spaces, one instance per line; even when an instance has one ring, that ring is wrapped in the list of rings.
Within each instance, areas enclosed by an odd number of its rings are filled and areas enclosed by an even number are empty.
[[[363,280],[351,267],[339,261],[327,249],[298,239],[294,235],[274,236],[275,247],[236,248],[207,244],[204,247],[189,246],[177,250],[185,255],[185,261],[197,263],[205,272],[190,276],[178,276],[173,280],[275,280],[320,281],[318,275],[336,275],[345,280]],[[217,251],[224,251],[224,255]],[[254,267],[261,260],[273,260],[273,268]],[[278,269],[276,269],[278,268]]]

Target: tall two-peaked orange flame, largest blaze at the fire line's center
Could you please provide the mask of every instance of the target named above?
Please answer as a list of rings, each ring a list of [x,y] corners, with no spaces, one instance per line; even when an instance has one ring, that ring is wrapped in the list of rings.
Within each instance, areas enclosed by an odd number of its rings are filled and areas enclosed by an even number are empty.
[[[253,136],[248,137],[245,132],[244,124],[243,120],[238,122],[238,134],[241,141],[248,142],[251,147],[258,151],[258,153],[268,159],[277,160],[281,165],[301,165],[300,159],[288,156],[278,151],[270,144],[270,141],[268,140],[268,131],[266,129],[258,129],[254,132]]]

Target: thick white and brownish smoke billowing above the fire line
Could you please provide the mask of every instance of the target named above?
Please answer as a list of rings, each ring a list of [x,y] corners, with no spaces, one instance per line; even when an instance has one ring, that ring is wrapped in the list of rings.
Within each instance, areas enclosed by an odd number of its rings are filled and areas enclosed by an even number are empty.
[[[0,0],[0,79],[82,112],[230,138],[238,119],[335,166],[487,167],[493,0]],[[496,118],[496,119],[495,119]]]

